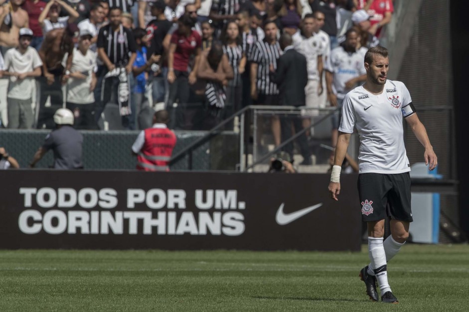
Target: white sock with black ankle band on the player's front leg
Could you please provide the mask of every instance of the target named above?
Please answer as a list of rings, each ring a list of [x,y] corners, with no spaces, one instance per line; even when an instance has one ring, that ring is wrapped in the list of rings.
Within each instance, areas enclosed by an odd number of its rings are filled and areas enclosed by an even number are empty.
[[[371,259],[371,265],[374,269],[374,275],[378,280],[378,286],[381,290],[381,296],[390,292],[388,284],[388,272],[386,266],[386,253],[384,252],[382,237],[368,237],[368,254]]]

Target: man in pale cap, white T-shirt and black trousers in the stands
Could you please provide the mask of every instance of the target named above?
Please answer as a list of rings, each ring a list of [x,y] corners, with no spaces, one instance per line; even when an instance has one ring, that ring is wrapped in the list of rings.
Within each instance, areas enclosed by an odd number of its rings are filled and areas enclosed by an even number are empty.
[[[97,129],[94,117],[94,93],[96,87],[96,56],[91,51],[92,34],[80,31],[78,47],[73,50],[70,78],[67,81],[67,108],[75,117],[77,129]]]

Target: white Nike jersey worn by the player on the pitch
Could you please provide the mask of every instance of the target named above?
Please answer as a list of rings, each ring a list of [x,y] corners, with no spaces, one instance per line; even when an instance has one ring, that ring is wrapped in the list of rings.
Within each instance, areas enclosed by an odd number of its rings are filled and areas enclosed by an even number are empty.
[[[406,109],[411,102],[409,91],[400,81],[386,81],[380,95],[373,95],[362,86],[347,93],[339,131],[352,133],[355,127],[360,135],[359,173],[410,171],[402,119],[403,115],[413,114]]]

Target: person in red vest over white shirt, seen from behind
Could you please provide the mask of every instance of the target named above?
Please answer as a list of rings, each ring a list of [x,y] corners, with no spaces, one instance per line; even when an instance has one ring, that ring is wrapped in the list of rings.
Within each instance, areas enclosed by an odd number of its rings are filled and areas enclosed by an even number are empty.
[[[158,110],[153,115],[153,127],[140,132],[132,145],[137,156],[137,170],[169,171],[169,159],[176,145],[176,135],[167,128],[167,110]]]

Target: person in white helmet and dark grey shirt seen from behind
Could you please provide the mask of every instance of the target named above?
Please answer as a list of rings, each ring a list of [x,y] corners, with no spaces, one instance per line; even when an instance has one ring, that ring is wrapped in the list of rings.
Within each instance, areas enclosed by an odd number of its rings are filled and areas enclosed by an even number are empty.
[[[55,169],[82,169],[83,136],[73,128],[73,113],[66,108],[59,108],[54,114],[56,129],[49,133],[44,144],[39,147],[29,164],[34,168],[36,163],[50,149],[54,152]]]

